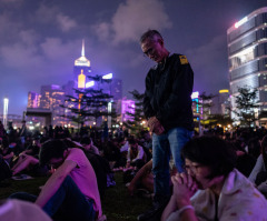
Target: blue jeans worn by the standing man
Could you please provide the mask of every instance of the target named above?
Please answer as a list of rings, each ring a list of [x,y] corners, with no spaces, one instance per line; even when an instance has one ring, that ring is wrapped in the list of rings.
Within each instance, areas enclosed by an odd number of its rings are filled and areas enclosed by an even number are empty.
[[[192,137],[192,131],[185,128],[174,128],[167,132],[152,135],[152,173],[155,195],[169,195],[169,160],[172,154],[175,165],[182,172],[181,148]]]

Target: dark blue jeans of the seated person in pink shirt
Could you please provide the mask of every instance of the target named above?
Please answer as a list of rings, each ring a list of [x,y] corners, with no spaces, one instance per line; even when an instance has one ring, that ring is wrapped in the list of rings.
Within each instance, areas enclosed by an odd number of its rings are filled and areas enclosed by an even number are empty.
[[[10,198],[31,202],[37,199],[36,195],[26,192],[14,193]],[[87,199],[70,177],[65,179],[42,209],[56,220],[93,221],[96,217],[93,200]]]

